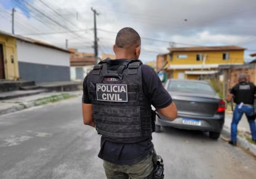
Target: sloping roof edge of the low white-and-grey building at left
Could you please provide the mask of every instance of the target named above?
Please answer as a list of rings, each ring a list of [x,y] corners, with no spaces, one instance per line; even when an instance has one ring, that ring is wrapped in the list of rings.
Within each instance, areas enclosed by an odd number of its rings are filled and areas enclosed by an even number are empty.
[[[35,39],[32,39],[32,38],[23,37],[21,35],[13,35],[11,33],[8,33],[8,32],[5,32],[5,31],[2,31],[2,30],[0,30],[0,35],[7,35],[7,36],[10,36],[10,37],[13,37],[13,38],[16,38],[18,40],[22,40],[22,41],[25,41],[25,42],[28,42],[28,43],[34,43],[34,44],[37,44],[37,45],[40,45],[40,46],[49,47],[51,49],[57,49],[57,50],[60,50],[60,51],[63,51],[63,52],[72,53],[72,52],[70,52],[66,49],[63,49],[63,48],[58,47],[58,46],[54,46],[54,45],[46,43],[46,42],[42,42],[40,40],[35,40]]]

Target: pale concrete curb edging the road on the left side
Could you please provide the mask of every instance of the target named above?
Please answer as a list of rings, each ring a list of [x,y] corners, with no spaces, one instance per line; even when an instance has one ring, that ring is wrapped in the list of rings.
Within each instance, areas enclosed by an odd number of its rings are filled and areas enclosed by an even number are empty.
[[[63,96],[55,96],[54,98],[55,98],[55,100],[64,99]],[[24,103],[18,103],[12,107],[7,108],[7,109],[0,110],[0,115],[14,113],[14,112],[17,112],[20,110],[28,109],[30,107],[47,104],[47,103],[51,102],[51,100],[52,100],[52,98],[46,98],[46,99],[41,99],[41,100],[37,100],[37,101],[28,101],[28,102],[24,102]]]

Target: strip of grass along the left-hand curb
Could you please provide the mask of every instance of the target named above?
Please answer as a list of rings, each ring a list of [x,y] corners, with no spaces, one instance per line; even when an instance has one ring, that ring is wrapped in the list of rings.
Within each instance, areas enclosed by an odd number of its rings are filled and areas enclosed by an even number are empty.
[[[65,100],[65,99],[70,99],[70,98],[75,98],[77,95],[70,95],[69,93],[62,93],[60,95],[51,95],[47,96],[44,98],[38,98],[35,100],[32,100],[35,102],[36,106],[47,104],[47,103],[55,103],[57,101]]]

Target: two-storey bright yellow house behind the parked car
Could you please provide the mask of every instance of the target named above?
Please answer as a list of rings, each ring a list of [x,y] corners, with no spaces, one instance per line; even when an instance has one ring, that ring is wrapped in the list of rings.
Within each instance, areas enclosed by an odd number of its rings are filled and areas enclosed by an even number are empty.
[[[157,69],[168,62],[167,78],[199,79],[217,73],[221,64],[243,64],[244,50],[240,46],[169,48],[169,53],[157,55]]]

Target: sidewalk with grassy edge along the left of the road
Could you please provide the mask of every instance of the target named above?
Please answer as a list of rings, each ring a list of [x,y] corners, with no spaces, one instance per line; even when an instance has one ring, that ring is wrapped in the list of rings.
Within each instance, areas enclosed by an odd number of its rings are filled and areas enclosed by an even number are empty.
[[[73,98],[82,94],[82,91],[70,92],[43,92],[36,95],[0,100],[0,115],[13,113],[29,107],[47,104],[49,102],[60,101]]]

